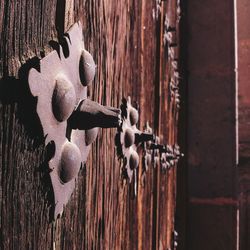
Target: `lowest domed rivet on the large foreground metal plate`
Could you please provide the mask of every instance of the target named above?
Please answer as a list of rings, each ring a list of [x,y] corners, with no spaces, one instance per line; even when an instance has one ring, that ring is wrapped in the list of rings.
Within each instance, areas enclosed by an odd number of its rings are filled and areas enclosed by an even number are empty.
[[[77,176],[81,166],[81,153],[79,148],[66,142],[62,149],[61,162],[59,166],[59,176],[63,183],[67,183]]]

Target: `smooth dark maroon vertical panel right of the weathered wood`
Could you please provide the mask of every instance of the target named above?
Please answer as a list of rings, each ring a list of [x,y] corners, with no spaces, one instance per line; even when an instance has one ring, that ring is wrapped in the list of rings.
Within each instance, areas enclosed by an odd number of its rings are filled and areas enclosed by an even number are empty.
[[[234,1],[186,3],[190,250],[235,250],[237,118]]]

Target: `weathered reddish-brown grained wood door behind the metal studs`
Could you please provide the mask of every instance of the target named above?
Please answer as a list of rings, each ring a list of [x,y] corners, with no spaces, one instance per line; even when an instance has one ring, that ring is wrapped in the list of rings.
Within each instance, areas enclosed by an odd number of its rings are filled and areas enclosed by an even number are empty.
[[[176,171],[150,169],[142,177],[140,164],[135,196],[133,183],[121,178],[114,129],[100,131],[62,218],[50,222],[43,136],[27,92],[28,69],[80,20],[97,64],[91,98],[118,107],[130,95],[140,107],[140,128],[149,120],[163,143],[174,144],[178,113],[168,94],[173,71],[163,46],[163,14],[175,23],[176,1],[160,7],[155,20],[153,0],[1,1],[1,249],[172,247]]]

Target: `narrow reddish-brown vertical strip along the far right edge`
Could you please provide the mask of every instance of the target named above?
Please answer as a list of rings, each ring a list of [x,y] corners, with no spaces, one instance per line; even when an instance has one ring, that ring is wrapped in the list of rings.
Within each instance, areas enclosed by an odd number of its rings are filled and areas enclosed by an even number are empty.
[[[239,221],[240,250],[250,248],[250,14],[247,0],[237,1],[239,78]]]

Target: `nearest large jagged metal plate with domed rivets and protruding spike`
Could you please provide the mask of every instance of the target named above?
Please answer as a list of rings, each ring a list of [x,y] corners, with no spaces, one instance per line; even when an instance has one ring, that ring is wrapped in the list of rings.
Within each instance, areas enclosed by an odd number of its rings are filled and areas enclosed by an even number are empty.
[[[94,80],[96,66],[85,50],[80,22],[73,25],[65,39],[68,56],[59,45],[59,54],[53,51],[40,61],[40,72],[29,72],[31,92],[38,97],[37,113],[45,144],[55,145],[55,154],[49,159],[55,218],[62,214],[74,190],[81,164],[86,162],[90,145],[97,137],[97,128],[118,127],[121,123],[119,109],[87,99],[87,86]],[[135,164],[133,159],[130,162]]]

